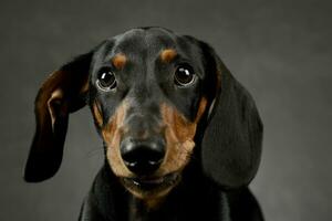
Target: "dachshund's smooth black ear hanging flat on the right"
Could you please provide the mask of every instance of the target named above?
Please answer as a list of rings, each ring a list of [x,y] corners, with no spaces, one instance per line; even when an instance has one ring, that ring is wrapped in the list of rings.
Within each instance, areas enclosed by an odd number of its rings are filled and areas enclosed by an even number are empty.
[[[262,123],[246,88],[230,74],[215,51],[206,45],[216,90],[210,98],[201,144],[205,173],[219,187],[235,189],[255,177],[261,155]]]

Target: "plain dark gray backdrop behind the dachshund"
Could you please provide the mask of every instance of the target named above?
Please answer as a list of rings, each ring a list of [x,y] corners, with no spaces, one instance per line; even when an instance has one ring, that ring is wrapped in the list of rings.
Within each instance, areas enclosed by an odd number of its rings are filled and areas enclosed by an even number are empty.
[[[266,133],[251,189],[267,220],[332,220],[331,2],[1,1],[0,220],[76,220],[101,141],[80,110],[58,175],[24,183],[37,90],[70,57],[142,25],[209,42],[255,96]]]

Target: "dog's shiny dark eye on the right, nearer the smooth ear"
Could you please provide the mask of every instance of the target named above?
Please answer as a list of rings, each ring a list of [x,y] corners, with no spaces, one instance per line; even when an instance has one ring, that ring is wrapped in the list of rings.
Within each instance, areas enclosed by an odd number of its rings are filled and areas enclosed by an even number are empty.
[[[179,65],[174,74],[174,83],[178,86],[188,86],[195,81],[195,73],[189,65]]]

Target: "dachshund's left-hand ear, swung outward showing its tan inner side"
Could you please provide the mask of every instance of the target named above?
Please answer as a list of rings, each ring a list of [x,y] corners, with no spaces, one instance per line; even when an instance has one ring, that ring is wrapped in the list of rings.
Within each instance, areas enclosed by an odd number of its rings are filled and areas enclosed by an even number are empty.
[[[85,105],[92,52],[53,72],[35,98],[37,128],[24,179],[38,182],[52,177],[62,161],[69,114]]]

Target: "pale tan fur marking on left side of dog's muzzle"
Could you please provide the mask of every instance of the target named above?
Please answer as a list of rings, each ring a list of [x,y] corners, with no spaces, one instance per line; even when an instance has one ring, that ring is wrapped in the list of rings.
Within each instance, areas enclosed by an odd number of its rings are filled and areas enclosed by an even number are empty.
[[[107,145],[106,156],[113,172],[118,177],[129,177],[131,171],[124,165],[121,152],[120,141],[123,136],[124,125],[127,109],[127,103],[124,101],[115,110],[107,125],[102,129],[104,141]]]

